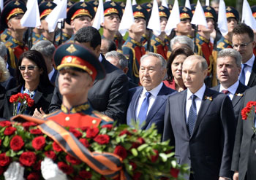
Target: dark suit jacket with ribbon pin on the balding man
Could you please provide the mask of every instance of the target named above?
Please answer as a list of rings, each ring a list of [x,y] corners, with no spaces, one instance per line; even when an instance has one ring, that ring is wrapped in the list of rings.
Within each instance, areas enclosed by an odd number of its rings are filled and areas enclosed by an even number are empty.
[[[206,87],[191,136],[185,115],[186,98],[187,90],[168,98],[163,141],[170,140],[170,145],[175,146],[179,164],[191,165],[194,179],[231,178],[235,125],[230,98]]]

